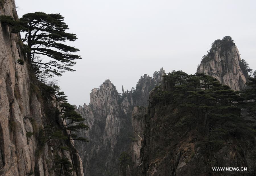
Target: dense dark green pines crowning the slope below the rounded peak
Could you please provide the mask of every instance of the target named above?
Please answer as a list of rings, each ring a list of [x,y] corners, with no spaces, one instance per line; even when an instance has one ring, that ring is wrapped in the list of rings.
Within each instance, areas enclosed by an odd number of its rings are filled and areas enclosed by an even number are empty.
[[[255,98],[255,78],[247,85],[254,89],[243,92],[244,97]],[[175,112],[175,128],[196,128],[202,134],[198,144],[207,151],[218,150],[229,137],[253,139],[255,135],[241,116],[241,104],[255,115],[255,102],[244,102],[239,92],[205,74],[188,75],[180,70],[165,75],[162,86],[155,88],[153,101]]]

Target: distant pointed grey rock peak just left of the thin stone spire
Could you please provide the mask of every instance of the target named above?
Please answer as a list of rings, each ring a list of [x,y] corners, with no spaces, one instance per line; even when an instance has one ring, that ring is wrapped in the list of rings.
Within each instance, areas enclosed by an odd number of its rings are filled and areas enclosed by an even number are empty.
[[[79,106],[77,112],[89,126],[85,134],[80,131],[79,135],[90,142],[82,146],[76,143],[84,164],[84,175],[116,174],[120,151],[128,150],[126,141],[131,134],[127,111],[127,101],[121,105],[121,97],[109,79],[99,89],[92,90],[90,105]]]

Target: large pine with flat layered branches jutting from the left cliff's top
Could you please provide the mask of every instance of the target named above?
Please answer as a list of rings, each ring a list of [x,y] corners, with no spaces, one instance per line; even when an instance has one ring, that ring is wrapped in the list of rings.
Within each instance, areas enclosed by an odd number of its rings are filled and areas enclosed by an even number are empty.
[[[79,55],[71,53],[79,49],[65,45],[64,42],[75,41],[76,34],[68,33],[68,25],[63,22],[61,14],[46,14],[44,12],[27,13],[19,20],[11,16],[0,16],[1,22],[11,26],[12,32],[25,32],[24,52],[33,68],[51,72],[61,76],[65,71],[71,69],[81,59]],[[44,60],[35,60],[36,55],[46,56]],[[53,59],[53,60],[51,60]]]

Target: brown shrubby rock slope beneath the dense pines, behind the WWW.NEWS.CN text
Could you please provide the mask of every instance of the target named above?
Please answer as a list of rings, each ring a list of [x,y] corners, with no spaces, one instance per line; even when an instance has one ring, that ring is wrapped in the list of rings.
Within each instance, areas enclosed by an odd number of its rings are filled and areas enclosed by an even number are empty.
[[[165,85],[166,83],[164,83]],[[167,87],[167,86],[166,86]],[[171,105],[162,106],[154,100],[156,91],[150,93],[150,105],[145,118],[145,131],[141,148],[141,175],[250,175],[255,173],[255,155],[253,145],[255,141],[226,139],[222,148],[212,151],[205,156],[205,151],[199,147],[201,131],[191,129],[185,125],[175,129],[179,120],[176,108]],[[172,109],[174,109],[172,111]],[[202,125],[203,128],[203,125]],[[199,133],[199,134],[198,134]],[[241,147],[243,145],[243,147]],[[241,149],[243,148],[243,149]],[[247,167],[246,172],[226,171],[213,172],[212,167]],[[139,174],[136,175],[139,175]]]

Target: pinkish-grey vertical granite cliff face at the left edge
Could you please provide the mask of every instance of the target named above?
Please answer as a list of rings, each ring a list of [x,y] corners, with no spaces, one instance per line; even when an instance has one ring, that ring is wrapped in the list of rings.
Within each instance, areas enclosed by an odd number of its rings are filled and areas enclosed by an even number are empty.
[[[0,15],[16,19],[15,2],[1,1]],[[18,64],[18,59],[24,60],[24,65]],[[39,144],[39,131],[49,121],[55,120],[55,110],[60,102],[55,95],[39,90],[38,81],[29,67],[22,52],[20,34],[11,33],[9,27],[1,23],[0,175],[60,175],[56,172],[57,154],[72,163],[72,175],[83,175],[75,148],[71,153]],[[59,127],[58,121],[53,122],[54,128]],[[49,141],[48,144],[67,146],[56,141]]]

